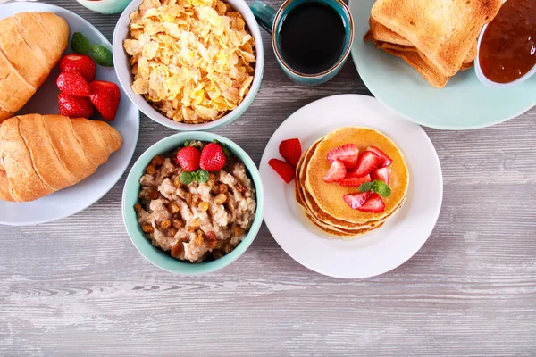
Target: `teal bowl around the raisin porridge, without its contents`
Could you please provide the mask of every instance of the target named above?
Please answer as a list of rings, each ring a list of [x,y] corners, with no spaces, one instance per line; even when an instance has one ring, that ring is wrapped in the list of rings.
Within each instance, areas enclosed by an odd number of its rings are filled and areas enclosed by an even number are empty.
[[[186,140],[199,140],[204,142],[212,142],[214,139],[217,139],[223,144],[226,144],[228,149],[232,154],[235,154],[239,159],[244,162],[246,168],[249,172],[250,178],[255,183],[256,191],[256,212],[255,220],[247,236],[242,240],[242,242],[233,249],[229,254],[222,256],[220,259],[209,262],[200,262],[200,263],[190,263],[182,262],[172,256],[169,253],[163,252],[159,248],[156,248],[151,244],[149,239],[145,237],[141,228],[138,225],[138,216],[134,212],[134,204],[138,203],[138,193],[140,189],[139,179],[144,174],[146,166],[151,162],[151,159],[157,154],[166,154],[178,146],[180,146]],[[259,170],[255,166],[255,162],[251,160],[248,154],[239,145],[230,141],[226,137],[221,137],[219,135],[209,133],[209,132],[184,132],[172,135],[171,137],[165,137],[155,145],[152,145],[143,153],[138,161],[134,163],[132,170],[130,170],[129,177],[125,183],[122,195],[122,214],[123,220],[125,223],[125,228],[129,233],[130,240],[136,246],[139,253],[143,255],[147,261],[152,262],[160,269],[170,271],[175,274],[181,275],[197,275],[204,274],[214,270],[222,269],[226,267],[231,262],[236,261],[240,255],[246,252],[247,247],[251,245],[255,239],[259,229],[261,228],[261,223],[263,222],[264,214],[264,189],[263,181],[261,180],[261,175]]]

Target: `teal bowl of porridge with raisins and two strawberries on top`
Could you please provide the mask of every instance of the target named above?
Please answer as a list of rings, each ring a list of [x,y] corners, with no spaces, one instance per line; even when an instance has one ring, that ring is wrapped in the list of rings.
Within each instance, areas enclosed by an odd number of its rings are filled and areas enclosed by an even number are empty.
[[[122,214],[149,262],[173,273],[219,270],[247,250],[263,221],[255,162],[229,139],[207,132],[165,137],[130,170]]]

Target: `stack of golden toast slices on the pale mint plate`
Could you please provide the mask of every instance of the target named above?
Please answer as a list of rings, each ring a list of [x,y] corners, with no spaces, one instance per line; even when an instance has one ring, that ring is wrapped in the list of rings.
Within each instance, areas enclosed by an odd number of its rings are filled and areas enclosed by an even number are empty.
[[[473,67],[482,27],[502,0],[377,0],[364,41],[403,59],[434,87]]]

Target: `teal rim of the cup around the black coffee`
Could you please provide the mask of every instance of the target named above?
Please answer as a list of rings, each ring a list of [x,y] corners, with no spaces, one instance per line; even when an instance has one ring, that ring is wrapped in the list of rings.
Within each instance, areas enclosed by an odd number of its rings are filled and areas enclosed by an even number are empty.
[[[307,0],[305,0],[305,1],[307,1]],[[320,73],[314,73],[314,74],[306,74],[306,73],[302,73],[300,71],[296,71],[291,66],[289,66],[289,64],[287,62],[285,62],[285,60],[283,59],[283,56],[282,56],[281,51],[280,51],[280,46],[279,46],[279,32],[280,32],[281,24],[282,24],[281,20],[284,20],[284,16],[287,15],[286,10],[289,9],[289,6],[292,5],[292,8],[294,8],[295,6],[297,6],[299,4],[303,4],[305,1],[297,2],[295,0],[287,0],[287,1],[285,1],[284,4],[281,5],[280,9],[275,14],[275,17],[274,17],[274,20],[273,20],[273,27],[272,27],[272,47],[273,47],[273,52],[275,53],[278,62],[280,62],[281,65],[283,67],[285,67],[285,69],[287,71],[291,72],[292,74],[294,74],[294,75],[296,75],[298,77],[306,78],[306,79],[322,79],[322,77],[325,77],[325,76],[329,75],[331,72],[337,71],[339,69],[339,66],[342,63],[344,63],[346,61],[346,59],[348,58],[348,55],[350,54],[350,52],[352,50],[352,45],[354,43],[354,19],[352,17],[352,13],[350,12],[350,9],[348,8],[347,4],[344,4],[341,0],[331,0],[332,2],[339,4],[342,12],[344,12],[344,14],[346,15],[346,19],[344,18],[344,16],[342,16],[342,15],[340,16],[342,18],[342,20],[344,21],[345,30],[347,31],[347,36],[346,36],[347,37],[347,42],[345,44],[345,50],[340,54],[339,60],[337,60],[337,62],[335,62],[326,71],[322,71]],[[320,1],[320,0],[313,0],[313,1],[316,2],[316,3],[322,3],[322,1]],[[295,4],[295,3],[299,3],[299,4]],[[322,3],[322,4],[324,4],[324,3]],[[330,6],[333,7],[331,4],[330,4]],[[337,13],[340,15],[338,9],[335,9],[335,11],[337,11]]]

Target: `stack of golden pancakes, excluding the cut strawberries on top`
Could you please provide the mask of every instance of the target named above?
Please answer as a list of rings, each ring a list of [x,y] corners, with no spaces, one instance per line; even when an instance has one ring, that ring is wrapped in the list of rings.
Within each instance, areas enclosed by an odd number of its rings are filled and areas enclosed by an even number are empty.
[[[350,208],[343,196],[359,192],[359,189],[326,183],[322,179],[330,169],[326,155],[349,143],[356,144],[360,153],[369,146],[376,146],[393,160],[389,176],[392,193],[383,198],[383,212],[361,212]],[[407,185],[404,156],[389,137],[375,129],[348,127],[321,137],[302,154],[297,163],[295,196],[306,217],[316,227],[333,237],[352,239],[380,228],[395,214],[406,198]]]

